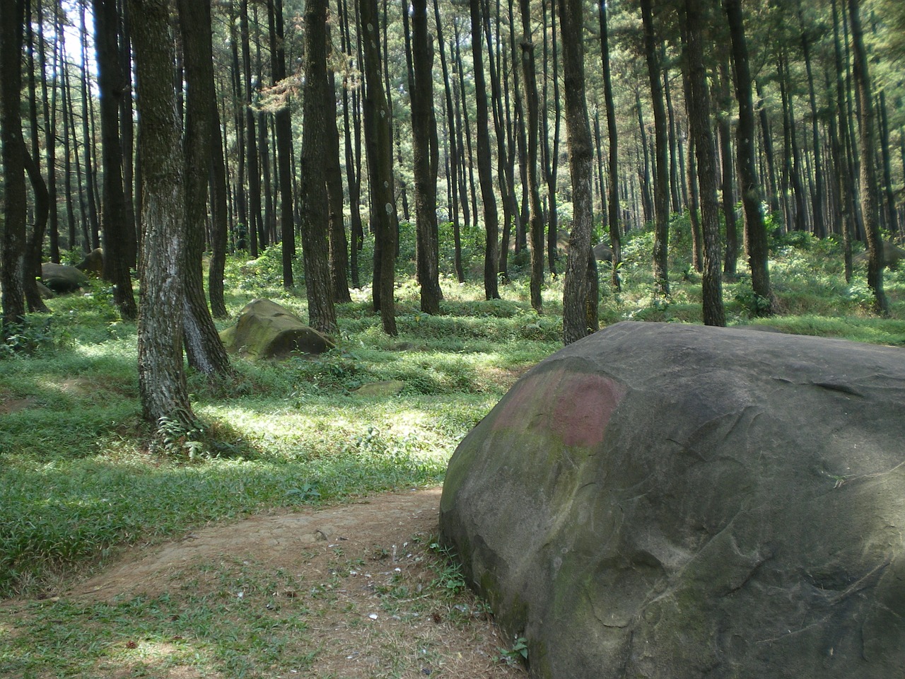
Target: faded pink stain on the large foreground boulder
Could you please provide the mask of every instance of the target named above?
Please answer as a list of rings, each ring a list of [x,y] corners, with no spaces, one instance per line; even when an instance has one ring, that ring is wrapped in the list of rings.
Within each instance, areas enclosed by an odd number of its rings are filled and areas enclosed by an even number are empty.
[[[592,447],[604,440],[624,385],[603,375],[555,370],[533,375],[510,394],[493,429],[541,429],[565,445]]]

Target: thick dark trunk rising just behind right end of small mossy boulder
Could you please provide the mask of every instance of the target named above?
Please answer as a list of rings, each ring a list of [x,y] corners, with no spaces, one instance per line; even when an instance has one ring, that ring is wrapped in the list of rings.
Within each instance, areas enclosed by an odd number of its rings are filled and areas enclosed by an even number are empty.
[[[301,249],[305,260],[305,292],[309,325],[319,332],[337,330],[330,282],[327,183],[327,107],[332,97],[327,80],[327,0],[305,5],[304,130],[301,139]]]

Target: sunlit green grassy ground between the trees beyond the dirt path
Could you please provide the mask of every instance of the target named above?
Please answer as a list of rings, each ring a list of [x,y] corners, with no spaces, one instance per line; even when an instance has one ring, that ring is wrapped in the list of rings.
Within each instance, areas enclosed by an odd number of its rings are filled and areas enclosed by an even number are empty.
[[[683,263],[687,248],[676,233],[671,300],[652,299],[651,237],[637,234],[625,244],[623,292],[602,285],[604,324],[700,322],[700,277]],[[281,288],[279,261],[278,253],[230,261],[233,314],[268,297],[305,317],[303,291]],[[777,241],[771,276],[780,314],[757,318],[742,272],[724,286],[729,323],[905,346],[905,274],[887,273],[892,312],[879,319],[863,272],[846,283],[841,262],[832,243]],[[561,347],[561,281],[548,281],[538,315],[523,272],[510,272],[501,301],[483,300],[477,275],[465,284],[444,278],[438,316],[418,311],[417,288],[402,278],[397,338],[381,332],[369,294],[356,291],[338,308],[338,349],[329,354],[237,360],[238,378],[226,384],[190,375],[205,426],[196,438],[206,443],[180,433],[152,451],[139,418],[135,325],[119,320],[100,283],[50,301],[52,315],[31,319],[16,340],[27,351],[0,348],[0,597],[51,596],[123,545],[195,526],[442,483],[462,436],[522,372]],[[384,379],[405,389],[390,398],[350,394]],[[54,624],[75,629],[81,615],[62,607]],[[0,651],[28,642],[27,630],[9,629],[0,618]],[[57,646],[65,644],[61,636]],[[0,674],[21,675],[7,651]]]

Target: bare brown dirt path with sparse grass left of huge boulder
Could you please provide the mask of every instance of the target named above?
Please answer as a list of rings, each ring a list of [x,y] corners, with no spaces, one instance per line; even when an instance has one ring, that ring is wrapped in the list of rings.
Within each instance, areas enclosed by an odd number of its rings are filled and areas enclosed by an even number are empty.
[[[79,676],[225,677],[215,664],[183,652],[195,640],[192,626],[178,618],[193,615],[193,602],[209,607],[210,601],[220,602],[220,630],[245,634],[250,618],[265,627],[271,618],[273,636],[282,630],[271,639],[281,652],[270,666],[250,668],[252,676],[523,676],[487,607],[463,590],[461,572],[436,553],[440,493],[384,493],[306,512],[267,512],[180,540],[129,547],[62,596],[42,605],[7,601],[0,615],[14,623],[62,602],[84,607],[91,612],[87,641],[92,626],[117,624],[115,616],[105,621],[99,607],[130,604],[140,617],[140,610],[166,602],[171,632],[165,625],[135,636],[130,625],[125,636],[111,637],[107,630],[103,637],[113,640],[104,643],[120,648],[109,648]],[[291,618],[295,624],[282,624]],[[199,618],[199,638],[209,636],[206,629]],[[228,646],[228,635],[214,637],[217,646]]]

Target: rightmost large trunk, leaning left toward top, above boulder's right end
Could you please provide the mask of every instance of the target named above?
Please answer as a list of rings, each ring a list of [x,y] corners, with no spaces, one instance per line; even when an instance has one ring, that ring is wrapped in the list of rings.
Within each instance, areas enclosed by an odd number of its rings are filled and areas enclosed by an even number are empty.
[[[890,312],[889,301],[883,292],[883,243],[878,215],[880,209],[876,154],[876,125],[873,115],[871,74],[868,71],[867,51],[864,49],[859,0],[848,0],[849,21],[852,25],[852,57],[855,91],[861,110],[861,211],[864,234],[867,237],[867,284],[873,292],[873,308],[885,316]]]

